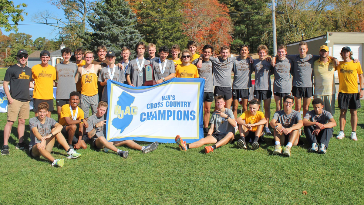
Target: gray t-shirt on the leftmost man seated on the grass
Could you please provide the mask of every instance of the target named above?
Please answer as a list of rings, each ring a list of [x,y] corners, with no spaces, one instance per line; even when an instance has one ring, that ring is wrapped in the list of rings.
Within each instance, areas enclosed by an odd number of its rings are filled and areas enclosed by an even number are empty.
[[[29,128],[30,128],[29,146],[34,146],[37,143],[41,143],[41,141],[38,140],[38,138],[36,138],[36,136],[34,135],[34,133],[32,131],[32,129],[34,127],[37,127],[39,134],[42,137],[45,137],[45,136],[51,134],[51,130],[55,127],[56,123],[57,123],[56,120],[54,120],[53,118],[50,118],[50,117],[46,117],[46,122],[44,124],[40,123],[40,121],[38,120],[38,117],[32,117],[31,119],[29,119]]]

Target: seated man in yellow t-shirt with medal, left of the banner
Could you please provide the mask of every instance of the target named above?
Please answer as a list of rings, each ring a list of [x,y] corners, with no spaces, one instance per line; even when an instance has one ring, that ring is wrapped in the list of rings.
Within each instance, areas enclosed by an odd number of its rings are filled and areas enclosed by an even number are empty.
[[[59,124],[63,126],[62,134],[67,137],[68,145],[71,148],[72,144],[75,149],[83,148],[86,149],[87,145],[84,140],[82,140],[82,135],[84,132],[84,127],[88,127],[87,120],[83,117],[83,111],[78,107],[80,102],[80,93],[77,91],[73,91],[70,93],[70,104],[63,105],[61,108],[61,119],[59,120]],[[75,132],[78,128],[78,139],[75,136]]]

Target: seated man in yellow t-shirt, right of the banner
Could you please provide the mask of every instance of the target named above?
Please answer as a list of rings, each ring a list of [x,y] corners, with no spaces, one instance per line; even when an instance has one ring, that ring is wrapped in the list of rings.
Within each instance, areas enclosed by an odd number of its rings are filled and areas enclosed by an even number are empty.
[[[246,141],[253,141],[252,150],[259,148],[258,140],[263,135],[264,125],[267,120],[263,112],[259,111],[259,103],[257,100],[251,100],[249,103],[249,111],[237,117],[236,122],[239,126],[240,138],[237,142],[238,147],[246,149]]]

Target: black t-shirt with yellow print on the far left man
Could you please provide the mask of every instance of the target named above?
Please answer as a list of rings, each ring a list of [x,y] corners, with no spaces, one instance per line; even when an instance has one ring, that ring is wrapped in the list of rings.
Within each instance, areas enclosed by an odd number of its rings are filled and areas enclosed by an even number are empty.
[[[21,102],[30,101],[29,83],[32,81],[32,69],[17,64],[9,67],[5,72],[4,81],[10,82],[10,95]]]

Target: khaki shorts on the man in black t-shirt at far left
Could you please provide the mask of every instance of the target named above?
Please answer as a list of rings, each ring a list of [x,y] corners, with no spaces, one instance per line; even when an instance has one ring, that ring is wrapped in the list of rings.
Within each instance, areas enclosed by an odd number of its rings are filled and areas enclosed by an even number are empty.
[[[29,101],[21,102],[13,99],[13,103],[9,104],[8,101],[8,120],[16,121],[16,119],[29,119]]]

